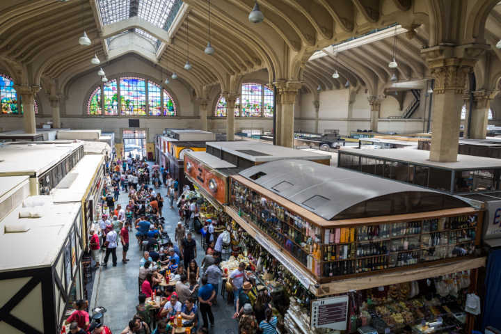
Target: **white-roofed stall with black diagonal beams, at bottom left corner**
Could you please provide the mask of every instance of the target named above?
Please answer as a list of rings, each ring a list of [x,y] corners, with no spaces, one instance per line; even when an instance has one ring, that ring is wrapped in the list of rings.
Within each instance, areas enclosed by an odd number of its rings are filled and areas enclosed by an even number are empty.
[[[80,203],[29,197],[0,223],[0,333],[59,333],[84,296]]]

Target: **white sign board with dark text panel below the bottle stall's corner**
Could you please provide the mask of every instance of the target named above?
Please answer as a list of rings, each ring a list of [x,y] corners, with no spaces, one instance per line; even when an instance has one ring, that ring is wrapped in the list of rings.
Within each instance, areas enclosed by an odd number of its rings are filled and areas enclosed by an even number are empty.
[[[311,326],[344,331],[347,329],[348,295],[312,301]]]

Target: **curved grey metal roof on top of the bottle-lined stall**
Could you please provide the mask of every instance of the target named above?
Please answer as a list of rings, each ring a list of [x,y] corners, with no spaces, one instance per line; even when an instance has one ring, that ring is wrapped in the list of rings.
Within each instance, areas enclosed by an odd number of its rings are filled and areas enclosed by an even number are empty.
[[[438,191],[307,160],[278,160],[239,175],[326,220],[469,207]]]

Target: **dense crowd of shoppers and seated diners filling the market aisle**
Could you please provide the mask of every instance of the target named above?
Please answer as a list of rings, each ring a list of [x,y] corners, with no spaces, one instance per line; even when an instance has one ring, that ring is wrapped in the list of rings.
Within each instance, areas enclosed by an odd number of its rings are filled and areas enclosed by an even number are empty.
[[[179,189],[179,182],[173,180],[168,170],[150,168],[145,161],[132,157],[119,159],[108,169],[102,193],[103,214],[95,228],[89,231],[95,267],[106,268],[110,255],[113,267],[117,265],[119,242],[122,244],[122,264],[127,264],[129,233],[135,234],[143,251],[138,263],[136,314],[122,334],[179,333],[175,332],[179,318],[191,333],[209,333],[209,328],[216,324],[212,307],[218,304],[220,289],[226,288],[221,285],[223,279],[232,287],[233,318],[238,321],[239,333],[276,333],[277,319],[271,312],[269,293],[266,290],[257,292],[246,276],[245,264],[229,274],[221,269],[221,238],[215,238],[214,223],[210,219],[203,229],[206,253],[198,264],[194,239],[198,205],[195,200],[186,199],[189,186]],[[128,193],[129,202],[125,207],[118,203],[121,191]],[[170,209],[177,210],[177,222],[164,221],[162,193],[168,198]],[[164,232],[165,224],[176,225],[174,242]],[[175,275],[175,285],[161,286],[166,273]],[[148,303],[154,296],[160,297],[159,307]],[[89,323],[84,301],[77,301],[77,308],[67,318],[67,323],[71,333],[111,333],[106,324]]]

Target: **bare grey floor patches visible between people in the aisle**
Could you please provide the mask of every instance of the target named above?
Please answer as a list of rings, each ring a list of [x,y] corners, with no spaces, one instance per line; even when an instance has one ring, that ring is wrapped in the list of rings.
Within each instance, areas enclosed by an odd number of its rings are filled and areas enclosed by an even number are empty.
[[[166,194],[166,188],[160,188],[162,196]],[[118,202],[122,206],[127,204],[127,193],[120,193]],[[166,203],[168,201],[166,200]],[[168,232],[170,238],[174,240],[174,230],[179,216],[177,210],[170,209],[168,205],[164,205],[163,215],[166,218],[164,230]],[[130,234],[130,246],[127,258],[130,260],[127,264],[122,264],[122,246],[119,244],[117,249],[118,264],[113,267],[111,257],[108,262],[108,267],[101,267],[99,282],[97,284],[96,306],[104,306],[108,312],[104,315],[104,322],[109,326],[113,333],[120,333],[132,319],[135,313],[135,307],[138,303],[138,271],[139,260],[141,260],[141,250],[136,243],[134,237],[135,232]],[[200,234],[195,234],[197,241],[197,262],[200,265],[204,255],[204,251],[200,246]],[[221,286],[221,285],[220,285]],[[234,313],[233,303],[223,302],[221,294],[218,295],[218,305],[213,306],[214,318],[216,326],[212,328],[211,333],[238,333],[237,321],[232,319]],[[199,313],[199,321],[202,317]]]

